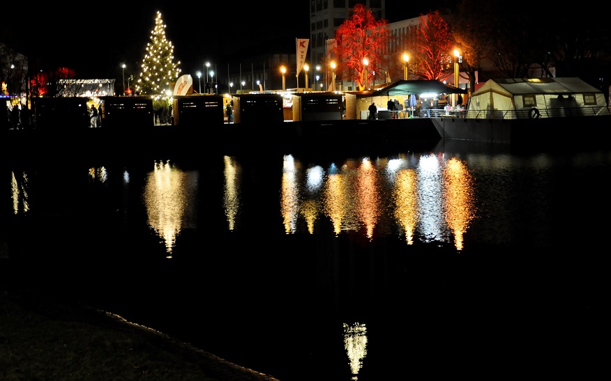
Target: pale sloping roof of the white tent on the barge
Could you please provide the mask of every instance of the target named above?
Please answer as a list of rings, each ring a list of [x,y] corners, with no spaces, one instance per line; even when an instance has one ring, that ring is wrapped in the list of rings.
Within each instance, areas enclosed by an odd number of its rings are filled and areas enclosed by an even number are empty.
[[[574,93],[601,93],[598,88],[587,84],[580,78],[506,78],[490,79],[484,86],[472,95],[491,91],[495,84],[512,95],[516,94],[574,94]],[[498,87],[497,87],[498,88]]]

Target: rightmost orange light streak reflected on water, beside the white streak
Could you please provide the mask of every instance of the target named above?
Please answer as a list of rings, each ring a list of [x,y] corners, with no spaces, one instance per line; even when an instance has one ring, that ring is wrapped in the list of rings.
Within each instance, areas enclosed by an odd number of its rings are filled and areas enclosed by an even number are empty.
[[[472,176],[467,166],[455,157],[448,160],[444,168],[444,208],[455,247],[462,250],[462,235],[475,215],[474,197]]]

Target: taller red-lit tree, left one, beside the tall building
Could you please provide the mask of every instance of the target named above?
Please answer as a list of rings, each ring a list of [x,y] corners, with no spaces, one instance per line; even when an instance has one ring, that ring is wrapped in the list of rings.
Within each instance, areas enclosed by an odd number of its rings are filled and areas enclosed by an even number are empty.
[[[374,72],[380,72],[380,68],[388,64],[384,56],[390,33],[386,24],[384,19],[375,20],[371,10],[363,4],[356,4],[352,17],[335,31],[337,45],[333,53],[338,59],[337,72],[341,73],[342,78],[351,78],[361,90],[365,83],[370,82]],[[367,68],[363,59],[369,61]]]

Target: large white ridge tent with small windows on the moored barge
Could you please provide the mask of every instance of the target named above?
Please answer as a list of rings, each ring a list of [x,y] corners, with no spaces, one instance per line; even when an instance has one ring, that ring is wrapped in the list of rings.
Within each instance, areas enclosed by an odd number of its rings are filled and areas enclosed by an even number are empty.
[[[490,79],[469,98],[469,118],[550,118],[609,114],[605,95],[582,79]]]

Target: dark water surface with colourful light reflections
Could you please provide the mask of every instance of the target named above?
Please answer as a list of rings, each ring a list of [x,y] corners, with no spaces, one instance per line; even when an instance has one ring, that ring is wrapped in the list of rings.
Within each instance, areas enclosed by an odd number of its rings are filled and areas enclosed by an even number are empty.
[[[611,150],[113,157],[0,164],[8,283],[285,381],[603,364]]]

